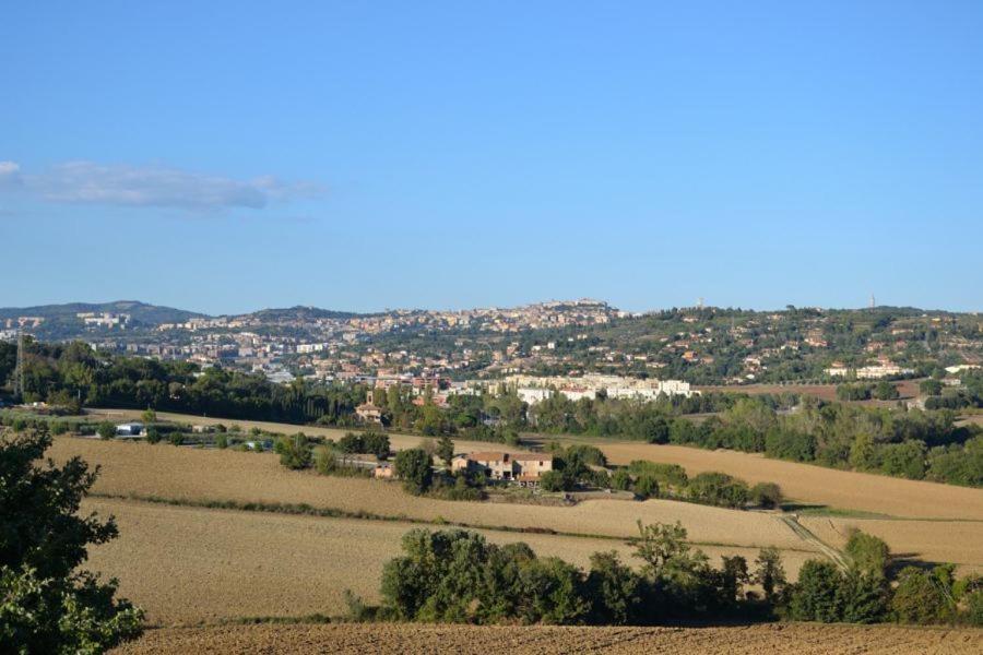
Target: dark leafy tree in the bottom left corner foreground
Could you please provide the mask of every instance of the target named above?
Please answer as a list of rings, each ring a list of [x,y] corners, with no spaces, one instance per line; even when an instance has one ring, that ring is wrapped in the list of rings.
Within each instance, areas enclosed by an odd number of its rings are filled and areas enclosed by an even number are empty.
[[[19,653],[96,653],[137,636],[143,612],[79,565],[117,536],[111,519],[79,513],[95,481],[79,457],[38,463],[44,431],[0,439],[0,644]]]

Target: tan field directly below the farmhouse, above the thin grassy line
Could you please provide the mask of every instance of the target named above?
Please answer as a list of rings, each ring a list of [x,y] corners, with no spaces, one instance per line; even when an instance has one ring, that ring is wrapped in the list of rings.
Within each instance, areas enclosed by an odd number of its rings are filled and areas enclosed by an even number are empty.
[[[282,467],[272,454],[58,438],[56,460],[81,455],[102,466],[94,492],[181,501],[307,503],[387,517],[450,521],[475,527],[546,528],[560,533],[628,537],[636,522],[680,521],[692,541],[816,551],[778,516],[686,502],[589,500],[546,507],[417,498],[394,483],[318,476]]]

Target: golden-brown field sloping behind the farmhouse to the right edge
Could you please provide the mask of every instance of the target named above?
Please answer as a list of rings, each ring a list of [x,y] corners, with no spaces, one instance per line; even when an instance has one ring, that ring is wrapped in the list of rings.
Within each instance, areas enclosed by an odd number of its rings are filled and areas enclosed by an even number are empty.
[[[100,410],[104,412],[104,410]],[[134,417],[138,412],[112,410],[115,417]],[[308,434],[336,438],[342,430],[309,428],[283,424],[229,421],[204,419],[187,415],[159,414],[162,418],[183,422],[238,422],[244,427],[258,426],[275,432],[304,430]],[[419,437],[392,434],[393,448],[413,448]],[[566,438],[561,439],[566,440]],[[983,490],[905,480],[880,475],[837,471],[795,462],[769,460],[760,454],[735,451],[707,451],[682,445],[656,445],[637,441],[570,438],[570,441],[588,442],[601,448],[614,464],[627,464],[631,460],[651,460],[679,464],[690,474],[720,471],[743,478],[748,483],[772,481],[781,486],[789,498],[800,502],[908,516],[915,519],[973,519],[983,521]],[[460,451],[488,450],[483,442],[457,441]],[[509,449],[495,445],[501,450]]]

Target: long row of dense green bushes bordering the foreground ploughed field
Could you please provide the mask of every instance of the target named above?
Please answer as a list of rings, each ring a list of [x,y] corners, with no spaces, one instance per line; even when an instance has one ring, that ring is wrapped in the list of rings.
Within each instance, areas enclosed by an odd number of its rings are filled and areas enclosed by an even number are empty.
[[[755,568],[742,557],[710,565],[686,543],[680,524],[639,522],[631,541],[640,570],[618,555],[595,552],[590,569],[540,558],[525,544],[497,546],[463,529],[413,529],[403,555],[382,573],[382,604],[359,616],[381,620],[466,623],[659,624],[667,621],[795,620],[874,623],[980,623],[983,582],[957,581],[952,567],[901,571],[897,588],[890,553],[856,533],[849,565],[809,560],[789,584],[779,552],[762,549]],[[761,594],[749,591],[760,585]]]

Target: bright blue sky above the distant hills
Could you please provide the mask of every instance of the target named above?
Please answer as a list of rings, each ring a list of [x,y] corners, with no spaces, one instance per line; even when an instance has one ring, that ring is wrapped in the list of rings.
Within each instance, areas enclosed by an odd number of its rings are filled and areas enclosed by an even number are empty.
[[[980,2],[14,2],[0,306],[983,309]]]

